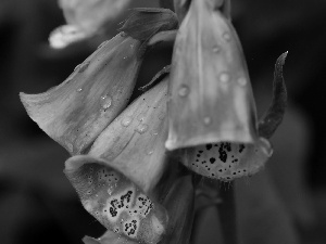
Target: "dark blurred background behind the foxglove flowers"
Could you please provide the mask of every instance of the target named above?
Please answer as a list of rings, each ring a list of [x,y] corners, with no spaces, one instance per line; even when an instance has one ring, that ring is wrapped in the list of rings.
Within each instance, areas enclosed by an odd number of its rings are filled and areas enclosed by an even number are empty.
[[[242,243],[326,243],[326,1],[233,0],[259,114],[271,101],[274,63],[289,51],[285,78],[289,107],[272,142],[275,154],[256,177],[235,189]],[[158,7],[134,0],[133,7]],[[121,16],[112,23],[112,37]],[[38,93],[61,84],[105,37],[54,51],[50,31],[64,23],[55,0],[0,1],[0,243],[82,243],[99,236],[64,177],[68,154],[29,119],[18,92]],[[171,47],[148,53],[139,80],[148,82]],[[218,243],[216,208],[206,208],[195,243]],[[221,240],[222,243],[222,240]]]

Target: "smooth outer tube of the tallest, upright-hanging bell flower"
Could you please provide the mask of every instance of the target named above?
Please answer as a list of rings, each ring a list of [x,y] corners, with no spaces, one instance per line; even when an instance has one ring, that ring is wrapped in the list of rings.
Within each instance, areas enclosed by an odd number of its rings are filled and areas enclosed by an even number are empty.
[[[253,142],[255,104],[241,46],[212,1],[193,0],[174,47],[166,149]]]

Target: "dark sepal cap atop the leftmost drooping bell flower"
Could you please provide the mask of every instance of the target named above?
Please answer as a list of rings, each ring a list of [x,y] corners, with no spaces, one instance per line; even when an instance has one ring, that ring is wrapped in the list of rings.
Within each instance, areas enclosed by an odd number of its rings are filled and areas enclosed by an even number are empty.
[[[176,29],[177,26],[176,15],[171,10],[138,8],[133,9],[131,14],[120,30],[137,40],[148,41],[159,31]]]

